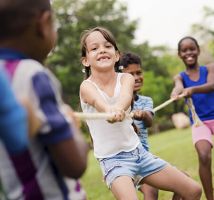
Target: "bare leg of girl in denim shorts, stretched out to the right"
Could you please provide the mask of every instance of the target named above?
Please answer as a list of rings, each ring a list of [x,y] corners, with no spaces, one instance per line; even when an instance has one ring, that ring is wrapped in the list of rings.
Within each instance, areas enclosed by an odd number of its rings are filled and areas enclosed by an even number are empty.
[[[201,197],[200,185],[170,165],[146,177],[144,182],[162,190],[175,192],[185,200],[199,200]]]

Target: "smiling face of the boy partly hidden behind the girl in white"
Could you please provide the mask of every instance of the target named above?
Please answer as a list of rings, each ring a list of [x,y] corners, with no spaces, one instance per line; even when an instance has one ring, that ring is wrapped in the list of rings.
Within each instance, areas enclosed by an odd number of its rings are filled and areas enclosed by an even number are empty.
[[[127,67],[124,67],[123,72],[134,76],[134,92],[138,92],[143,85],[143,72],[140,64],[129,64]]]

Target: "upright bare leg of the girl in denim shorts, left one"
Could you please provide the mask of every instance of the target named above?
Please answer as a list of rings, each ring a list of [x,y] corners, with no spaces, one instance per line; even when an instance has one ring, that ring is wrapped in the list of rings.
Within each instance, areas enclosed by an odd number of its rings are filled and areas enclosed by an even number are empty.
[[[128,176],[116,178],[112,183],[111,191],[117,200],[138,200],[133,181]]]

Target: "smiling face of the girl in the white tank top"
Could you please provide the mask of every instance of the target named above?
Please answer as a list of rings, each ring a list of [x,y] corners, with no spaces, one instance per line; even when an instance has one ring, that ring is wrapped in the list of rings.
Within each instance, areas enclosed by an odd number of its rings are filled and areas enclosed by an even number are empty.
[[[119,60],[119,52],[104,38],[101,32],[90,33],[85,40],[85,46],[86,56],[82,59],[84,66],[90,66],[92,71],[114,69],[115,63]]]

